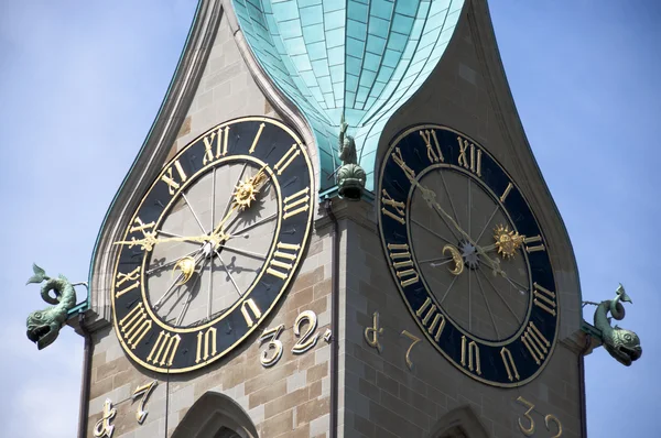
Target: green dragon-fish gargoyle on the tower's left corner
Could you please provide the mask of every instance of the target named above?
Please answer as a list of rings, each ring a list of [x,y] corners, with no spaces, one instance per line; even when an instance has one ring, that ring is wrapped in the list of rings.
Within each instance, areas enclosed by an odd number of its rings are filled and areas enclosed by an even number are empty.
[[[58,278],[51,278],[45,271],[36,264],[32,265],[34,275],[28,280],[28,283],[45,283],[41,287],[41,295],[44,302],[54,306],[46,307],[43,310],[36,310],[28,316],[28,338],[36,343],[36,348],[43,350],[48,347],[59,335],[59,329],[66,321],[67,313],[76,305],[76,291],[64,275]],[[51,296],[51,291],[55,296]]]

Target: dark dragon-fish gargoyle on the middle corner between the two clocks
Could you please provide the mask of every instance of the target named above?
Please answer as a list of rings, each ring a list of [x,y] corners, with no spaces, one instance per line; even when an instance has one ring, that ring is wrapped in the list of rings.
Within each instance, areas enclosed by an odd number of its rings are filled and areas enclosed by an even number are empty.
[[[365,171],[358,165],[358,154],[356,153],[356,142],[351,135],[347,135],[348,124],[342,116],[339,129],[339,160],[342,166],[337,169],[337,188],[343,198],[358,200],[362,195],[365,180],[367,178]]]

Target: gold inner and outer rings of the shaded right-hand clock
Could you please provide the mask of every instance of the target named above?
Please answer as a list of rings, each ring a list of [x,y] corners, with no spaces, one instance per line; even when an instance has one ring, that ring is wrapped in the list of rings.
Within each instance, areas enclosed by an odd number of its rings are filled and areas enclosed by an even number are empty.
[[[415,320],[415,324],[418,325],[418,327],[420,328],[420,330],[424,333],[424,337],[427,339],[427,341],[434,347],[434,349],[436,351],[438,351],[448,362],[451,362],[456,369],[458,369],[459,371],[462,371],[464,374],[468,375],[469,377],[479,381],[481,383],[491,385],[491,386],[497,386],[497,387],[517,387],[517,386],[522,386],[529,382],[531,382],[532,380],[534,380],[544,369],[545,366],[549,364],[555,346],[559,341],[557,339],[557,335],[559,335],[559,328],[560,328],[560,309],[561,309],[561,304],[560,304],[560,294],[557,293],[557,281],[555,280],[555,270],[553,269],[553,261],[551,260],[550,255],[548,256],[548,264],[550,267],[550,273],[551,276],[553,277],[553,287],[555,291],[555,311],[556,315],[554,317],[554,329],[553,329],[553,339],[551,341],[551,344],[549,347],[549,351],[545,354],[545,358],[542,359],[542,363],[540,365],[537,366],[537,370],[531,373],[530,375],[528,375],[525,379],[520,379],[520,380],[514,380],[511,381],[511,383],[508,382],[498,382],[498,381],[494,381],[494,380],[488,380],[488,379],[484,379],[480,375],[475,374],[474,372],[467,370],[466,368],[462,366],[460,364],[457,363],[457,360],[452,358],[451,354],[448,354],[443,348],[441,348],[438,346],[438,343],[433,339],[432,333],[430,333],[430,331],[427,330],[427,327],[425,327],[421,319],[422,316],[418,317],[415,314],[418,310],[415,310],[409,299],[407,298],[407,294],[404,293],[403,286],[401,286],[401,284],[398,281],[398,276],[397,276],[397,271],[393,267],[393,264],[390,262],[390,258],[389,258],[389,250],[388,250],[388,241],[387,241],[387,237],[384,234],[383,231],[383,226],[382,226],[382,221],[383,221],[383,213],[381,212],[381,209],[384,207],[382,199],[381,199],[381,190],[383,188],[383,176],[386,174],[386,168],[388,165],[388,162],[390,161],[391,154],[393,153],[394,149],[398,147],[398,145],[400,145],[401,141],[403,139],[405,139],[408,135],[415,133],[415,132],[421,132],[423,130],[441,130],[441,131],[446,131],[449,133],[453,133],[455,136],[459,136],[462,139],[465,139],[466,141],[468,141],[469,143],[474,144],[479,151],[481,151],[483,154],[487,155],[491,162],[497,165],[500,171],[502,172],[502,174],[507,177],[509,184],[512,185],[512,189],[516,189],[517,193],[520,195],[520,197],[522,198],[522,200],[525,202],[525,206],[532,217],[532,219],[534,220],[534,223],[537,226],[537,230],[539,231],[539,234],[542,237],[542,241],[545,243],[545,252],[548,253],[550,251],[550,245],[548,240],[544,237],[544,231],[540,226],[539,220],[537,219],[537,216],[532,209],[532,207],[530,206],[528,199],[525,198],[523,191],[519,188],[518,184],[514,182],[514,179],[511,177],[511,175],[505,169],[505,167],[498,162],[498,160],[496,160],[496,157],[489,153],[489,151],[484,147],[480,143],[478,143],[477,141],[475,141],[474,139],[472,139],[470,136],[466,135],[465,133],[455,130],[453,128],[443,125],[443,124],[437,124],[437,123],[420,123],[420,124],[414,124],[411,125],[404,130],[402,130],[398,135],[395,135],[393,138],[393,140],[391,142],[388,143],[387,150],[383,153],[381,161],[380,161],[380,169],[379,169],[379,179],[378,179],[378,193],[377,193],[377,222],[378,222],[378,228],[379,228],[379,236],[380,236],[380,240],[381,240],[381,245],[382,245],[382,250],[384,253],[384,256],[387,259],[387,263],[389,266],[389,271],[392,275],[393,278],[393,283],[398,289],[398,293],[400,294],[402,300],[404,302],[404,305],[407,306],[408,311],[411,314],[411,317]],[[456,147],[456,146],[454,146]],[[505,207],[503,202],[500,200],[499,196],[497,196],[494,191],[494,189],[486,184],[486,182],[484,182],[483,179],[480,179],[479,177],[472,175],[469,172],[466,172],[466,169],[464,168],[464,166],[460,166],[458,164],[453,164],[453,163],[448,163],[448,162],[443,162],[441,164],[427,164],[426,166],[423,167],[422,171],[420,171],[420,173],[416,173],[414,178],[416,178],[418,180],[422,179],[422,176],[424,176],[425,174],[427,174],[429,172],[431,172],[429,168],[435,166],[435,167],[444,167],[444,168],[451,168],[455,172],[460,172],[466,174],[466,176],[468,178],[470,178],[474,183],[479,184],[480,185],[480,189],[485,190],[489,197],[492,198],[492,200],[495,200],[498,206],[500,207],[501,211],[505,212],[507,219],[510,221],[511,226],[514,227],[514,231],[517,231],[516,226],[514,226],[514,221],[512,220],[511,216],[510,216],[510,211]],[[405,232],[407,232],[407,241],[409,242],[409,251],[411,252],[411,261],[413,262],[413,265],[415,267],[415,272],[418,273],[418,275],[420,276],[420,278],[422,280],[421,283],[424,286],[424,293],[431,298],[432,304],[436,305],[436,307],[440,309],[438,314],[444,315],[444,317],[447,319],[447,322],[449,322],[456,330],[458,330],[459,333],[463,333],[464,336],[469,336],[469,339],[473,340],[477,340],[480,344],[485,344],[487,347],[492,346],[492,347],[503,347],[507,348],[508,346],[510,346],[512,342],[514,342],[517,340],[518,337],[521,337],[521,333],[523,333],[523,331],[525,331],[527,329],[527,325],[530,322],[530,317],[531,317],[531,311],[532,311],[532,306],[533,306],[533,298],[532,298],[532,294],[533,294],[533,288],[532,288],[532,284],[533,284],[533,277],[531,275],[531,263],[530,260],[525,261],[525,265],[527,265],[527,270],[528,270],[528,275],[529,275],[529,286],[531,287],[530,292],[529,292],[529,299],[528,299],[528,308],[527,308],[527,313],[525,313],[525,318],[523,319],[521,326],[517,329],[517,331],[509,336],[508,338],[503,339],[503,340],[498,340],[498,341],[489,341],[486,339],[481,339],[479,337],[476,337],[475,335],[469,333],[467,330],[465,330],[463,327],[460,327],[458,324],[456,324],[452,316],[446,314],[445,310],[443,309],[442,306],[438,306],[437,303],[437,298],[434,296],[434,294],[431,292],[431,288],[427,286],[426,283],[426,278],[424,278],[424,275],[422,273],[422,271],[420,270],[420,266],[418,264],[418,256],[414,254],[414,245],[413,242],[411,240],[411,228],[410,228],[410,215],[411,215],[411,198],[412,198],[412,194],[415,190],[415,186],[413,184],[411,184],[411,187],[409,188],[408,193],[407,193],[407,199],[404,201],[405,204],[405,220],[407,220],[407,225],[405,227]],[[509,193],[509,191],[508,191]],[[399,201],[402,201],[402,199],[398,199]],[[551,250],[552,250],[552,245],[551,245]],[[528,259],[528,254],[525,254],[525,258]],[[458,340],[456,340],[456,342],[459,342]],[[470,351],[468,352],[468,354],[470,355]],[[502,353],[501,353],[502,354]],[[502,361],[505,362],[505,358],[502,359]],[[488,365],[488,364],[487,364]],[[507,366],[507,364],[506,364]]]

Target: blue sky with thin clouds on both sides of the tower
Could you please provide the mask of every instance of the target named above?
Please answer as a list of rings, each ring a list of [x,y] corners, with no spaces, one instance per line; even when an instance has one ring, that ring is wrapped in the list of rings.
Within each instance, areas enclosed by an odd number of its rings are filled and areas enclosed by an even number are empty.
[[[0,0],[0,435],[76,434],[83,339],[39,351],[37,262],[86,281],[104,215],[156,114],[193,0]],[[572,239],[583,297],[633,299],[643,355],[586,358],[590,437],[655,437],[661,358],[661,3],[492,0],[505,69]],[[594,308],[586,308],[592,319]]]

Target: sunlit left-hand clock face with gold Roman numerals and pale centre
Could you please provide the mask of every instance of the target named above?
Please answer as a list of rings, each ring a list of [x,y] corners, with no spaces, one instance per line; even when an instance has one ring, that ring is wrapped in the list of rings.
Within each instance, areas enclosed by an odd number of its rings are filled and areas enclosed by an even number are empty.
[[[312,194],[305,147],[277,120],[223,123],[178,152],[115,242],[112,309],[124,351],[177,373],[248,337],[294,276]]]

